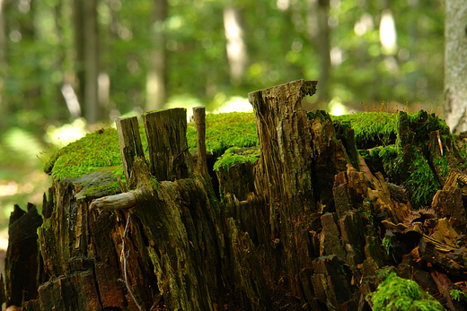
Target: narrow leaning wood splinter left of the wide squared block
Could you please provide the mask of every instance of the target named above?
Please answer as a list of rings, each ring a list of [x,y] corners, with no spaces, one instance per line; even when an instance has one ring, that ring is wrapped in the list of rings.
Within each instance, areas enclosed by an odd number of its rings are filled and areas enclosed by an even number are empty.
[[[133,168],[135,157],[145,157],[141,137],[139,136],[139,125],[137,117],[123,117],[115,120],[117,132],[119,133],[119,147],[123,173],[129,182],[130,172]]]

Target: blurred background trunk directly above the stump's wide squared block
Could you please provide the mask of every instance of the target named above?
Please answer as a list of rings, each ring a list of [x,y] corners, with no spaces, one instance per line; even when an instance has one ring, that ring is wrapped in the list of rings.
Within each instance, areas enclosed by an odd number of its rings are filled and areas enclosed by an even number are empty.
[[[167,49],[164,22],[167,19],[167,0],[154,0],[151,23],[153,51],[146,79],[146,110],[163,108],[167,101]]]

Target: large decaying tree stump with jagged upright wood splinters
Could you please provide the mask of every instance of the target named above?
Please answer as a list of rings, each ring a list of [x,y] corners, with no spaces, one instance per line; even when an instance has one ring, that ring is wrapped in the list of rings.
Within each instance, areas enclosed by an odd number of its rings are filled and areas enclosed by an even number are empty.
[[[27,226],[28,245],[11,233],[7,305],[370,310],[367,295],[394,271],[444,307],[466,308],[463,137],[426,112],[400,113],[387,145],[367,149],[356,125],[302,109],[315,90],[300,80],[251,92],[259,149],[232,151],[249,158],[216,176],[204,108],[194,109],[195,158],[184,109],[146,113],[146,140],[136,117],[117,120],[121,168],[106,160],[55,176],[42,221],[32,207],[13,214],[10,230]],[[109,131],[91,136],[95,148]]]

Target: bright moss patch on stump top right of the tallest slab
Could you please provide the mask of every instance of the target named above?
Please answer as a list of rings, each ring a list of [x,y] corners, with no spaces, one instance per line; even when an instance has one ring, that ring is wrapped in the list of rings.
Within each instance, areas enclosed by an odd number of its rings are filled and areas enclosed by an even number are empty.
[[[331,119],[351,125],[355,131],[355,140],[359,149],[393,144],[397,137],[397,114],[357,112],[353,115],[331,116]]]

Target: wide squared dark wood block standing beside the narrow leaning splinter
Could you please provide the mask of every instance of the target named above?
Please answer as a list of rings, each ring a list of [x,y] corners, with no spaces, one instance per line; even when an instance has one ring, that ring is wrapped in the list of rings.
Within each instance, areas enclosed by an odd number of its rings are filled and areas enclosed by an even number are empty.
[[[193,159],[187,144],[187,111],[173,108],[143,115],[150,169],[159,181],[190,177]]]

